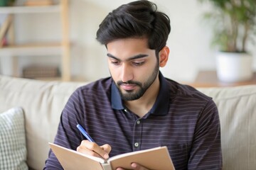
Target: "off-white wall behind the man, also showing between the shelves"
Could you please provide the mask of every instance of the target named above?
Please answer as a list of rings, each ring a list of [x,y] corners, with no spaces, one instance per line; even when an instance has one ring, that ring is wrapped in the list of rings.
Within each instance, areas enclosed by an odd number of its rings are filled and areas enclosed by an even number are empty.
[[[107,13],[128,0],[70,0],[70,39],[72,75],[85,80],[109,76],[105,47],[95,40],[100,22]],[[171,19],[171,33],[167,45],[170,48],[169,62],[161,69],[163,74],[176,81],[193,81],[198,70],[215,68],[215,50],[210,48],[211,30],[202,21],[202,13],[208,6],[197,0],[154,1]],[[58,15],[18,16],[17,40],[58,40],[60,32]],[[35,24],[36,23],[36,24]],[[36,27],[35,27],[36,26]],[[35,29],[36,28],[36,29]],[[43,36],[42,36],[43,35]],[[253,55],[256,49],[250,45]],[[23,57],[23,65],[32,59]],[[43,62],[43,57],[40,59]],[[56,57],[52,62],[58,62]],[[256,61],[254,61],[256,68]]]

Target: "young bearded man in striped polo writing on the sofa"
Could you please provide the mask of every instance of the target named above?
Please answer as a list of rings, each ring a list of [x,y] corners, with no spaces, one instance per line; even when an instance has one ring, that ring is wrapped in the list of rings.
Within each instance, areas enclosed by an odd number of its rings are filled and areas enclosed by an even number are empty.
[[[97,40],[107,48],[111,77],[70,96],[54,142],[105,159],[167,146],[176,169],[221,169],[215,103],[159,72],[169,57],[170,30],[169,17],[149,1],[134,1],[109,13]],[[95,142],[82,136],[78,123]],[[45,169],[62,169],[51,151]],[[131,169],[146,168],[134,162]]]

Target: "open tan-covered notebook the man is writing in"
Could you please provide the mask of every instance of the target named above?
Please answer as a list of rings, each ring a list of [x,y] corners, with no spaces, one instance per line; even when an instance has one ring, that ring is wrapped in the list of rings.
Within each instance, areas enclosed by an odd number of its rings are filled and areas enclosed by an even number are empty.
[[[119,154],[105,160],[50,142],[49,145],[64,169],[112,170],[117,169],[117,167],[131,169],[132,162],[136,162],[148,169],[174,170],[174,165],[166,146]]]

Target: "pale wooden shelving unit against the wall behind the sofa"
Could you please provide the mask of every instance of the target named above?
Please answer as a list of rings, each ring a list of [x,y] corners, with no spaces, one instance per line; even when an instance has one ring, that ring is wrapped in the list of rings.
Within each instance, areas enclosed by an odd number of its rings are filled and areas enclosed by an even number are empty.
[[[9,14],[11,17],[21,13],[60,13],[62,40],[59,42],[22,44],[16,45],[14,25],[9,28],[9,45],[0,47],[0,55],[14,56],[13,72],[17,75],[18,55],[60,55],[61,56],[61,80],[70,81],[70,41],[68,24],[68,0],[60,0],[59,4],[51,6],[10,6],[0,7],[0,14]]]

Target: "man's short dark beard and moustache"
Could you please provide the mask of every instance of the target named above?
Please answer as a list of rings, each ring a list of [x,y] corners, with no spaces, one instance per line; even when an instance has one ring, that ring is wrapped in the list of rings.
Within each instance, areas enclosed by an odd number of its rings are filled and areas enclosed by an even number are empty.
[[[151,84],[153,84],[153,82],[155,81],[157,75],[159,73],[159,64],[158,62],[156,63],[156,67],[154,68],[154,72],[151,74],[151,76],[149,77],[149,79],[147,79],[147,81],[142,84],[139,81],[127,81],[127,82],[122,82],[122,81],[117,81],[117,89],[119,91],[119,94],[122,98],[122,100],[124,101],[134,101],[137,100],[139,98],[141,98],[144,93],[146,92],[147,89],[149,89],[149,87],[151,86]],[[139,86],[139,90],[138,91],[134,91],[134,90],[126,90],[126,93],[122,93],[122,90],[120,88],[120,86],[122,84],[134,84]]]

